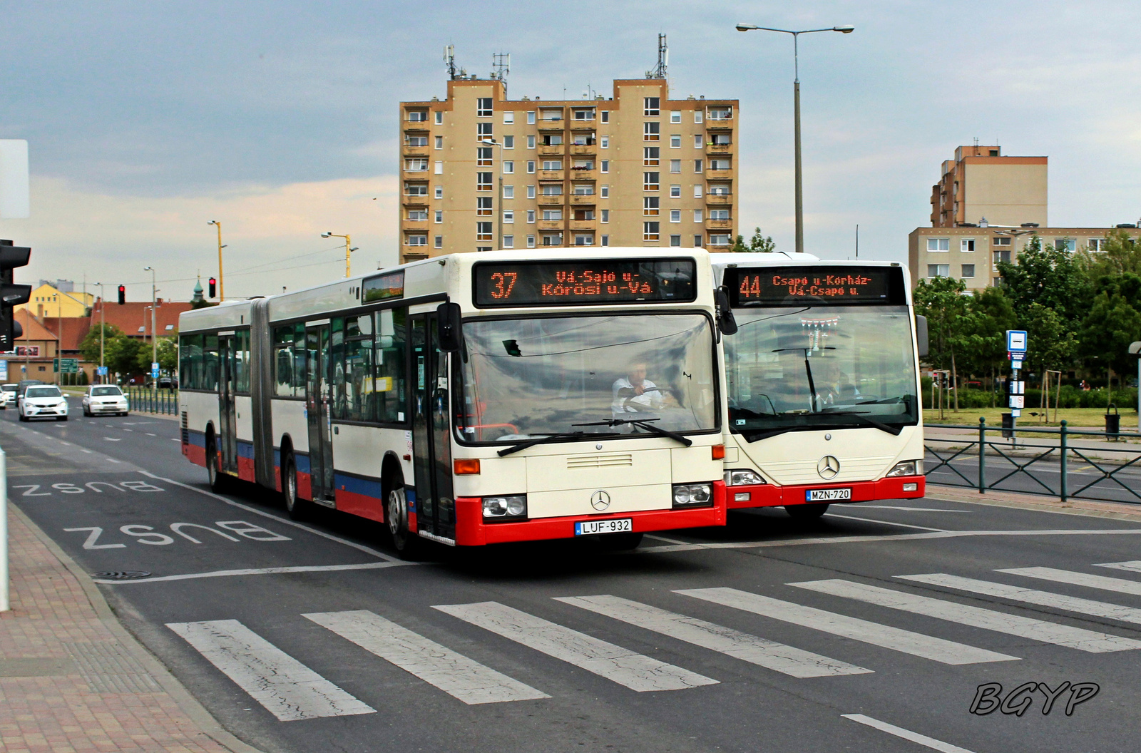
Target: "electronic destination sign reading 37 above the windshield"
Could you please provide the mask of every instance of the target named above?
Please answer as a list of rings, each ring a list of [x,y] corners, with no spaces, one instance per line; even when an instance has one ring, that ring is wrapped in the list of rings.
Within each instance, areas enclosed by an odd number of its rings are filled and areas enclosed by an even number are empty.
[[[477,264],[472,298],[478,308],[590,306],[696,299],[693,259],[598,259]]]

